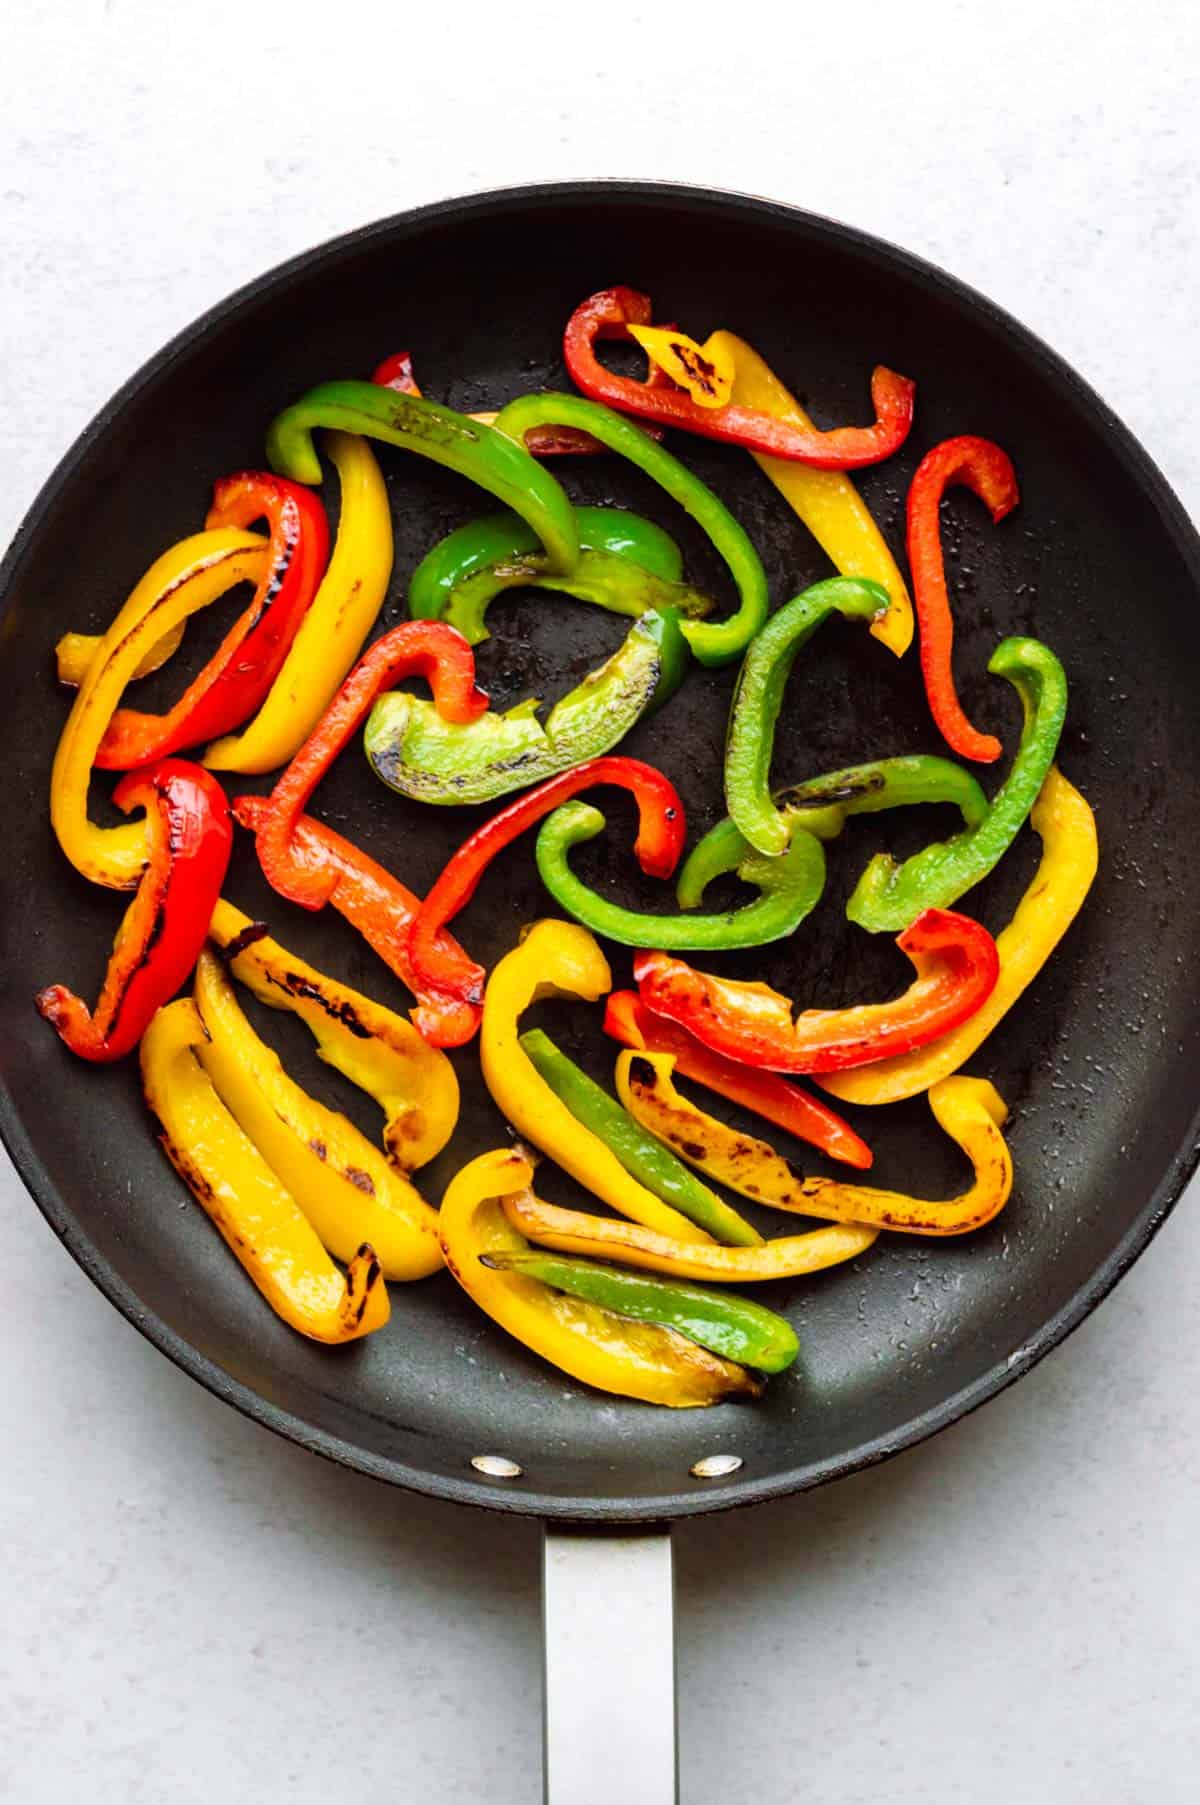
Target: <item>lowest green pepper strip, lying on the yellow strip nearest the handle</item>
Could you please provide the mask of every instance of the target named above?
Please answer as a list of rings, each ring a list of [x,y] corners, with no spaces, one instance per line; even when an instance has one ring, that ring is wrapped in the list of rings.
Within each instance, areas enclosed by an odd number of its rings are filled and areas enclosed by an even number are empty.
[[[478,1258],[496,1273],[536,1278],[552,1291],[599,1303],[635,1323],[675,1328],[698,1347],[758,1372],[785,1372],[799,1354],[796,1330],[783,1316],[731,1292],[532,1247],[525,1253],[482,1253]]]

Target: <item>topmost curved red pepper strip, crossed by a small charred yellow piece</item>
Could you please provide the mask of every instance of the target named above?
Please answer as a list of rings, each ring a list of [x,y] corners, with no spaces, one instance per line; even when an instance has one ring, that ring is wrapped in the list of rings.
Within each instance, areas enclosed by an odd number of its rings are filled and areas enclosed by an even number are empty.
[[[837,426],[832,431],[792,426],[758,408],[727,403],[702,408],[691,395],[660,383],[639,383],[608,370],[595,356],[603,338],[628,338],[630,325],[650,325],[653,307],[637,289],[601,289],[588,296],[567,321],[563,356],[577,388],[621,413],[659,426],[678,426],[704,439],[722,439],[763,457],[783,457],[812,469],[863,469],[879,464],[908,439],[913,424],[917,384],[884,365],[872,374],[873,426]]]

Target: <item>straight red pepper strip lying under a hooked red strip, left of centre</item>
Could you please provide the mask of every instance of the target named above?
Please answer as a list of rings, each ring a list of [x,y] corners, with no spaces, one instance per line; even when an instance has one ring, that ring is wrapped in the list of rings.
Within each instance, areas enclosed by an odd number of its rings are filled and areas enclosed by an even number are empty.
[[[235,819],[240,827],[256,834],[267,819],[267,796],[238,796],[233,805]],[[336,910],[350,926],[363,935],[384,966],[395,973],[420,998],[419,1007],[410,1011],[420,1014],[426,1023],[435,1023],[437,1040],[429,1032],[431,1045],[462,1047],[480,1025],[478,1004],[455,1004],[453,998],[429,993],[422,996],[420,984],[408,958],[408,930],[420,904],[420,897],[393,877],[392,872],[368,857],[361,847],[336,834],[323,821],[314,821],[310,814],[301,814],[291,838],[291,856],[309,866],[316,877],[327,872],[337,874],[328,906]],[[449,935],[446,937],[451,939]],[[455,948],[451,942],[451,955]],[[466,960],[462,948],[458,957]],[[422,1005],[429,1004],[429,1014]]]

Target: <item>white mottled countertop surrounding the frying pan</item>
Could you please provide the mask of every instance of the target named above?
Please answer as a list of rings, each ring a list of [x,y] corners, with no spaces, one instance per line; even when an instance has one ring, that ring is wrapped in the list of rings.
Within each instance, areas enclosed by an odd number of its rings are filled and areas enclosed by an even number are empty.
[[[946,264],[1200,513],[1191,4],[866,0],[783,36],[745,4],[520,11],[5,18],[0,542],[235,285],[420,200],[585,175],[769,193]],[[0,1184],[0,1798],[532,1805],[536,1527],[244,1422]],[[1195,1800],[1195,1200],[982,1413],[678,1532],[684,1805]]]

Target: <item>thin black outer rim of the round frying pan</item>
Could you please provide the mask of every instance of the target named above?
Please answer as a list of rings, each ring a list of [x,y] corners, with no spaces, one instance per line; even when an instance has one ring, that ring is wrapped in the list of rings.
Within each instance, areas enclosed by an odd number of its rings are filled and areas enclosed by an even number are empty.
[[[287,285],[301,273],[314,271],[323,264],[336,262],[346,255],[355,255],[365,245],[370,245],[375,240],[384,240],[395,233],[411,233],[422,226],[464,220],[467,217],[473,220],[485,218],[512,208],[570,204],[594,199],[619,200],[630,206],[669,200],[693,211],[731,208],[742,217],[756,217],[763,222],[774,222],[780,227],[810,231],[823,236],[830,244],[852,249],[857,256],[870,258],[877,265],[908,276],[909,280],[917,280],[928,291],[940,292],[947,300],[953,300],[958,307],[964,307],[992,330],[1002,330],[1009,343],[1014,345],[1032,365],[1036,365],[1052,386],[1065,392],[1088,422],[1106,437],[1130,480],[1139,486],[1142,495],[1153,505],[1162,531],[1168,534],[1175,551],[1200,587],[1200,536],[1196,534],[1182,502],[1140,440],[1130,431],[1130,428],[1124,426],[1124,422],[1113,413],[1092,384],[1072,368],[1072,365],[1068,365],[1029,327],[1021,325],[1021,321],[1018,321],[1012,314],[998,307],[987,296],[980,294],[980,291],[940,269],[937,264],[890,244],[886,238],[879,238],[877,235],[861,231],[855,226],[826,218],[819,213],[810,213],[781,200],[747,195],[734,190],[700,188],[686,182],[603,179],[527,182],[426,202],[419,208],[410,208],[383,220],[354,227],[352,231],[341,233],[336,238],[328,238],[319,245],[301,251],[300,255],[276,264],[263,274],[235,289],[217,305],[206,309],[197,319],[168,339],[161,350],[148,357],[115,390],[115,393],[88,421],[42,484],[42,489],[34,496],[16,529],[9,551],[0,561],[0,619],[4,619],[9,606],[13,579],[32,549],[38,532],[52,525],[60,493],[72,480],[81,462],[88,457],[96,440],[119,421],[128,403],[134,401],[134,397],[139,395],[162,372],[166,372],[177,357],[189,354],[197,343],[226,327],[242,309],[256,305],[263,296]],[[1137,1222],[1128,1229],[1119,1245],[1108,1254],[1090,1280],[1083,1283],[1047,1323],[1043,1323],[1032,1341],[1009,1354],[1003,1361],[996,1361],[969,1386],[960,1388],[949,1399],[942,1399],[937,1406],[931,1406],[929,1410],[909,1419],[893,1435],[877,1437],[807,1467],[792,1467],[767,1476],[743,1475],[736,1480],[722,1480],[716,1486],[693,1484],[688,1491],[664,1491],[662,1495],[646,1498],[579,1500],[565,1498],[558,1493],[511,1487],[509,1484],[489,1484],[482,1476],[475,1476],[471,1473],[466,1457],[464,1475],[460,1478],[451,1478],[446,1475],[428,1473],[392,1457],[370,1455],[337,1435],[303,1422],[294,1413],[271,1404],[253,1388],[242,1384],[141,1303],[112,1262],[108,1262],[90,1242],[74,1211],[60,1195],[58,1186],[51,1180],[29,1137],[25,1135],[20,1114],[4,1079],[0,1079],[0,1141],[4,1141],[18,1177],[32,1195],[47,1224],[92,1283],[108,1298],[112,1305],[115,1305],[126,1321],[130,1321],[139,1334],[157,1347],[159,1352],[166,1354],[175,1366],[197,1379],[215,1397],[233,1404],[235,1410],[251,1421],[260,1422],[263,1428],[296,1442],[310,1453],[323,1455],[325,1458],[334,1460],[339,1466],[346,1466],[352,1471],[399,1486],[404,1491],[420,1493],[424,1496],[453,1504],[498,1509],[516,1516],[536,1516],[559,1522],[651,1523],[668,1518],[700,1516],[711,1511],[762,1504],[771,1498],[781,1498],[798,1491],[814,1489],[816,1486],[828,1484],[835,1478],[845,1478],[850,1473],[875,1466],[906,1448],[913,1448],[918,1442],[928,1440],[940,1430],[949,1428],[951,1422],[958,1422],[973,1410],[978,1410],[983,1402],[1007,1390],[1007,1386],[1016,1379],[1023,1377],[1023,1374],[1030,1372],[1112,1292],[1117,1282],[1149,1245],[1173,1206],[1178,1202],[1187,1180],[1200,1164],[1200,1099],[1178,1152],[1169,1162],[1166,1175],[1155,1186]]]

